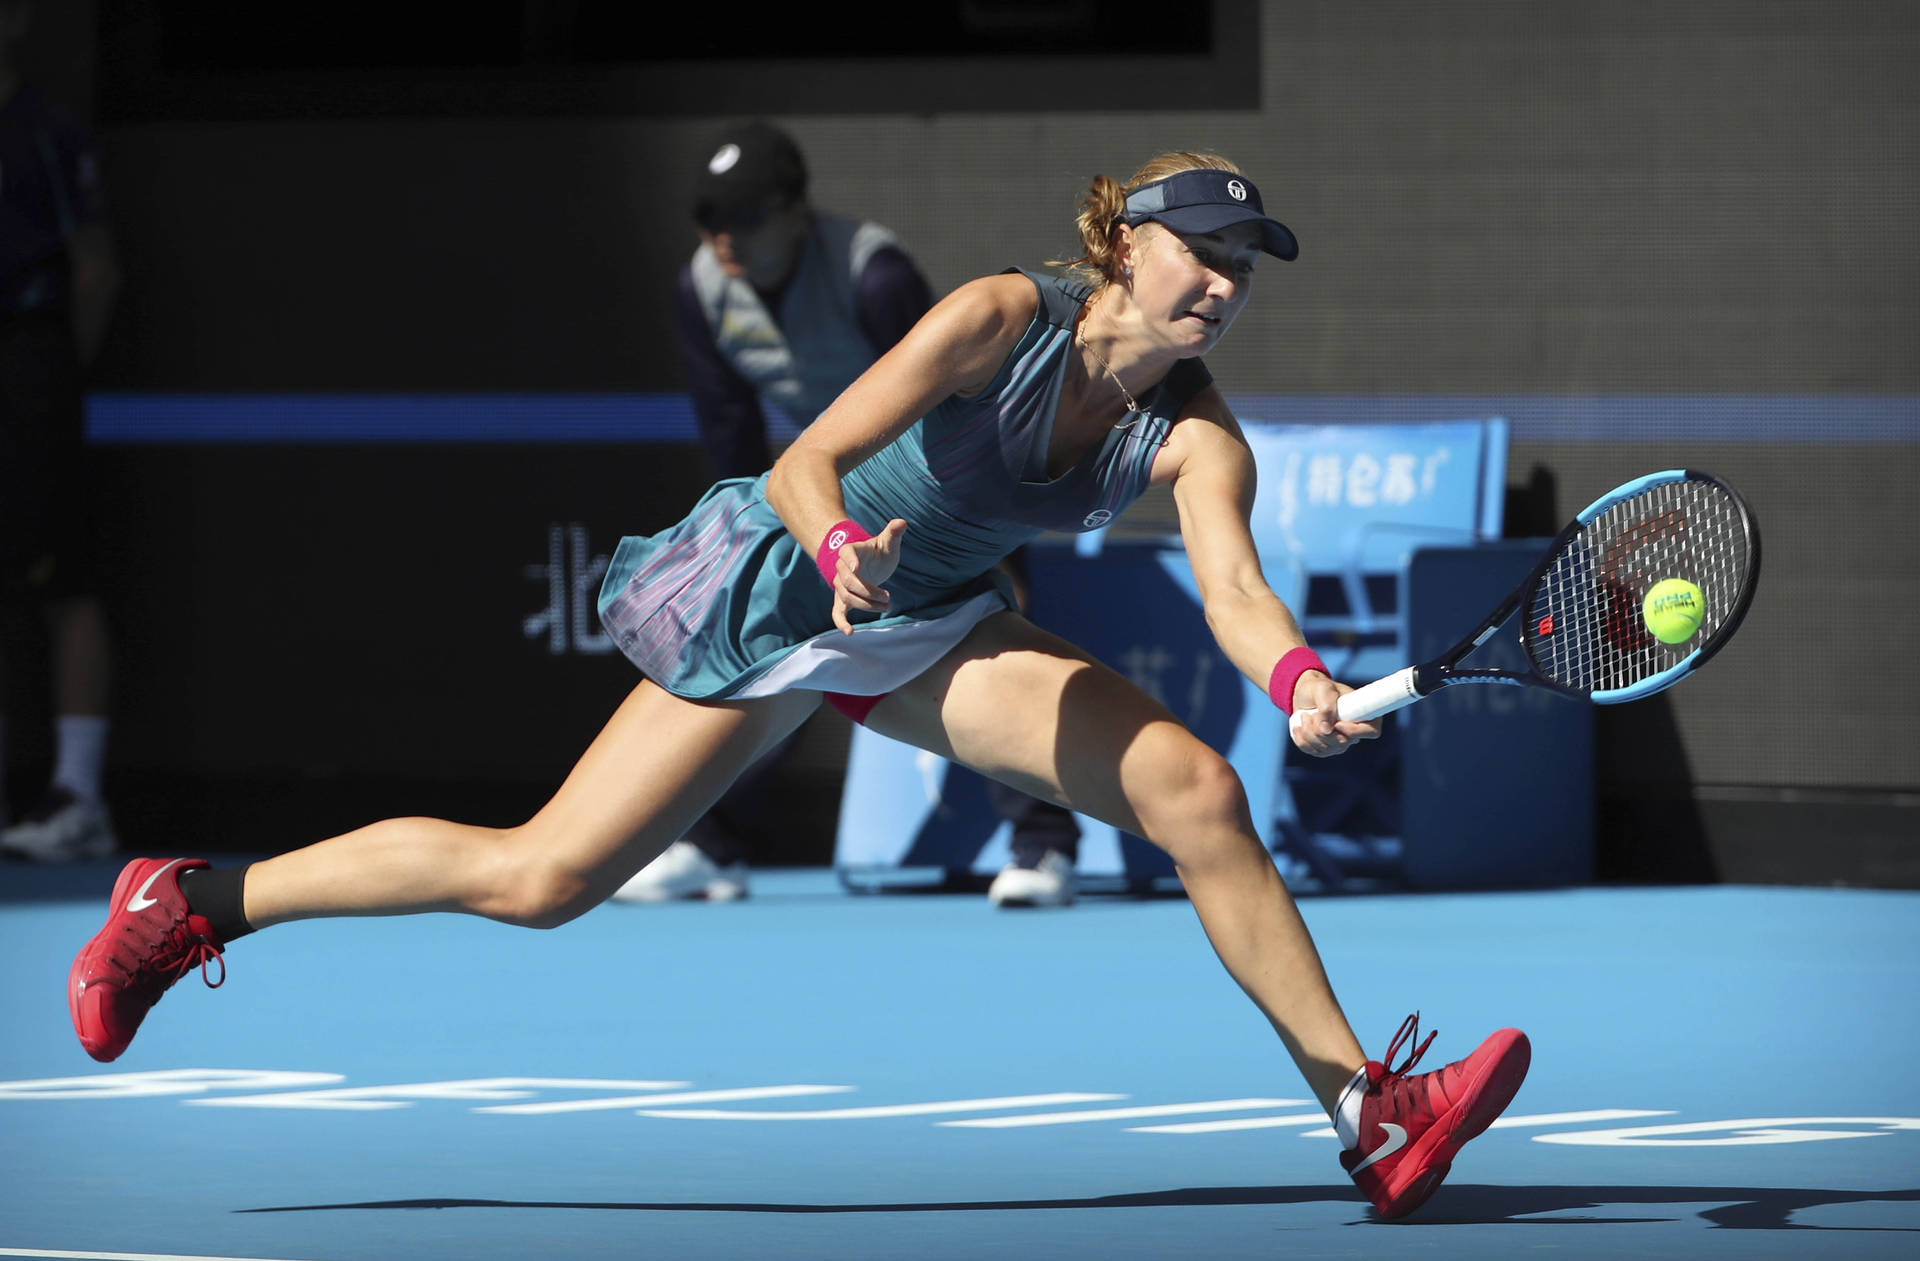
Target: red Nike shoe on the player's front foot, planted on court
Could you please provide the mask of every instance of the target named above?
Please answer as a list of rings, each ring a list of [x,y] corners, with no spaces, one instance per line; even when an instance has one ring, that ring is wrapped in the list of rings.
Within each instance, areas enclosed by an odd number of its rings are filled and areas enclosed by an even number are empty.
[[[1386,1061],[1419,1033],[1415,1011],[1394,1035]],[[1340,1154],[1340,1165],[1380,1217],[1405,1217],[1427,1203],[1453,1167],[1453,1155],[1513,1102],[1532,1063],[1526,1035],[1501,1029],[1465,1059],[1407,1077],[1432,1040],[1428,1033],[1398,1069],[1367,1061],[1359,1142]]]

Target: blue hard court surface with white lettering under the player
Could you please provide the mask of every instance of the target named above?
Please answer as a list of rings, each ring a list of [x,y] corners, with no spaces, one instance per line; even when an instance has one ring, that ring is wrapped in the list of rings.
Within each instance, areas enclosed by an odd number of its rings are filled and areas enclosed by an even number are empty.
[[[536,935],[321,921],[132,1050],[63,979],[115,868],[8,869],[0,1255],[1910,1257],[1920,894],[1304,902],[1369,1054],[1534,1042],[1377,1223],[1181,898],[995,912],[774,869]]]

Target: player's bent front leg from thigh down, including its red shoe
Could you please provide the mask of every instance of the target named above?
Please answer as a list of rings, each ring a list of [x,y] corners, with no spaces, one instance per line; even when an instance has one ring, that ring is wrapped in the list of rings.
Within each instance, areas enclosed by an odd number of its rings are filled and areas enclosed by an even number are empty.
[[[989,618],[881,701],[868,726],[1165,848],[1213,950],[1279,1031],[1334,1119],[1342,1167],[1382,1217],[1419,1207],[1519,1090],[1530,1050],[1517,1029],[1417,1077],[1407,1071],[1427,1042],[1396,1067],[1369,1061],[1254,831],[1238,775],[1164,706],[1056,635],[1018,614]],[[1409,1019],[1386,1059],[1413,1036]]]

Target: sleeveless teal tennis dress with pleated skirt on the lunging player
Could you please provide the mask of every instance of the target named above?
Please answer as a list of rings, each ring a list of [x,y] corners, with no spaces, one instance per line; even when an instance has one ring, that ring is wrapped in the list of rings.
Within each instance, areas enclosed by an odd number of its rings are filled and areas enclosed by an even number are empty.
[[[678,526],[622,539],[607,568],[601,624],[641,674],[714,701],[791,687],[887,693],[1014,607],[995,568],[1002,557],[1043,532],[1098,530],[1146,489],[1173,420],[1212,374],[1181,361],[1131,424],[1048,478],[1073,321],[1091,290],[1021,274],[1039,309],[993,384],[945,399],[841,480],[852,520],[876,534],[906,522],[887,614],[841,633],[814,559],[766,503],[766,474],[718,482]]]

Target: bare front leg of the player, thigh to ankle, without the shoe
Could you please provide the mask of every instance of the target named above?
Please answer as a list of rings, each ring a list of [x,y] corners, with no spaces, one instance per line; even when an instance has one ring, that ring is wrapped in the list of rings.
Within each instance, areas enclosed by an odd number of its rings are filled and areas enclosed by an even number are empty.
[[[1240,777],[1165,706],[1058,635],[1000,614],[881,701],[868,726],[1167,850],[1221,964],[1332,1111],[1367,1056]]]

